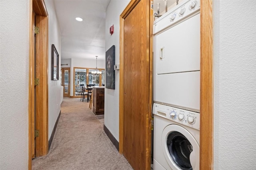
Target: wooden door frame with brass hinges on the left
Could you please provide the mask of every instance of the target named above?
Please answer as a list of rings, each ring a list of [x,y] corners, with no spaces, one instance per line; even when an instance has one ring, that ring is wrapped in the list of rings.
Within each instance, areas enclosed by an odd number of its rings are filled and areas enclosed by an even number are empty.
[[[36,35],[36,45],[34,41],[34,25],[32,22],[33,11],[36,14],[36,24],[40,27],[39,34]],[[40,130],[39,137],[36,138],[36,156],[48,153],[48,13],[44,0],[29,0],[29,63],[28,63],[28,169],[32,169],[32,156],[34,150],[34,125]],[[34,60],[34,48],[37,57]],[[36,70],[35,70],[36,64]],[[34,72],[39,78],[39,86],[34,86]],[[34,107],[34,101],[38,101]],[[40,102],[39,102],[40,101]],[[36,110],[36,122],[34,112]]]

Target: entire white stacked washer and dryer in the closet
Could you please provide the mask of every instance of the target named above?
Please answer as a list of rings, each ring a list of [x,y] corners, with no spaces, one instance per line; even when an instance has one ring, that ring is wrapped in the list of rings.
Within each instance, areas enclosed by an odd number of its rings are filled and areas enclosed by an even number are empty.
[[[153,35],[153,168],[199,170],[200,0],[155,20]]]

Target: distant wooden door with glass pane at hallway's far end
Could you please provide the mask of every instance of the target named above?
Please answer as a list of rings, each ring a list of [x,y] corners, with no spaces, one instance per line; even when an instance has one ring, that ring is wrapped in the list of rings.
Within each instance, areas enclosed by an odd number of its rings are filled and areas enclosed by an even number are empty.
[[[70,97],[70,68],[61,68],[61,85],[63,86],[63,97]]]

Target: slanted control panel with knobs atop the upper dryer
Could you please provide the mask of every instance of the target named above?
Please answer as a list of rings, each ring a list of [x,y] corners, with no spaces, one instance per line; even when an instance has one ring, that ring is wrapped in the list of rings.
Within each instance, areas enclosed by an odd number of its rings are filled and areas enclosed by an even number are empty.
[[[174,6],[156,21],[153,25],[153,34],[156,34],[175,23],[200,13],[200,0],[183,0],[180,4]]]

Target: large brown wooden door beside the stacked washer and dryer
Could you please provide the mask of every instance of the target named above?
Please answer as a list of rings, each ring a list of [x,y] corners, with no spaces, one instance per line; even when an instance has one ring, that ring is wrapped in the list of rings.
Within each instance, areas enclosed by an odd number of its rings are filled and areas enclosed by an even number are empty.
[[[120,20],[122,29],[120,121],[123,123],[120,124],[120,148],[135,170],[150,169],[152,105],[150,14],[149,0],[132,0],[121,14]]]

